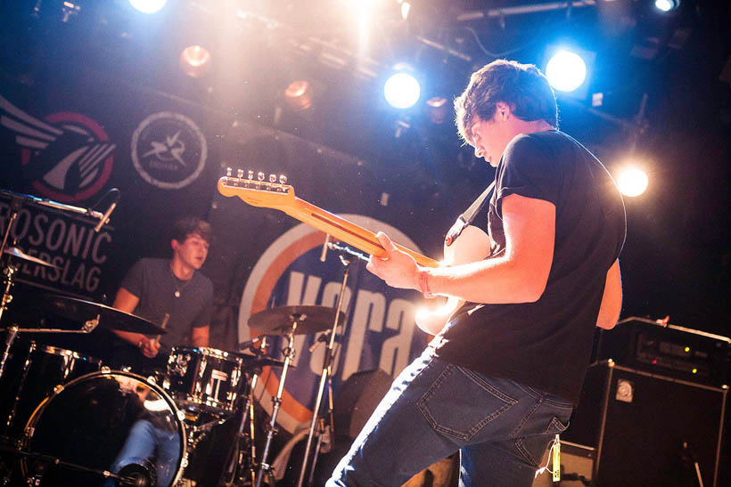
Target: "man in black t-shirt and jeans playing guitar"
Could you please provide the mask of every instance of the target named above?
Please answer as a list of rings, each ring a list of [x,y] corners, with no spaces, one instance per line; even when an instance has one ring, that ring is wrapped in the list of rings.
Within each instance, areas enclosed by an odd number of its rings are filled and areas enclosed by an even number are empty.
[[[530,486],[578,402],[594,327],[620,316],[624,205],[599,160],[558,130],[546,77],[493,61],[455,109],[464,142],[497,168],[487,258],[422,267],[378,234],[386,255],[371,256],[369,271],[464,305],[443,329],[420,323],[436,337],[397,377],[331,487],[401,485],[457,450],[460,485]]]

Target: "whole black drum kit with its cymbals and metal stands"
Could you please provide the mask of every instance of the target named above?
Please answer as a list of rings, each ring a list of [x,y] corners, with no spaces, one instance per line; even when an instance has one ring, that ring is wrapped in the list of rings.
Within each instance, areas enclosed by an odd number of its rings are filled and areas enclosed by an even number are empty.
[[[69,208],[55,203],[53,206]],[[9,320],[6,316],[3,320],[4,313],[12,302],[13,276],[21,264],[55,267],[21,248],[6,245],[16,214],[13,211],[0,243],[0,256],[4,258],[0,268],[0,327],[4,327],[0,328],[0,336],[4,334],[4,345],[0,343],[0,486],[193,485],[185,478],[187,467],[191,467],[189,459],[195,459],[193,453],[214,426],[231,421],[238,431],[217,485],[260,487],[274,477],[268,460],[277,432],[284,381],[295,357],[293,337],[325,331],[320,341],[329,343],[301,485],[324,382],[332,375],[335,331],[344,321],[342,297],[337,308],[279,306],[252,315],[249,327],[258,336],[239,344],[243,352],[175,346],[168,355],[167,367],[151,377],[129,368],[111,369],[84,353],[43,345],[44,340],[39,338],[17,338],[82,335],[97,328],[161,336],[165,329],[104,304],[53,294],[43,295],[34,305],[74,322],[75,328],[7,326]],[[348,272],[349,266],[343,288]],[[281,361],[267,356],[267,338],[276,336],[286,341]],[[259,423],[254,418],[253,394],[264,368],[281,368],[281,376],[259,456],[254,438]],[[332,402],[331,384],[331,411]],[[318,446],[319,433],[322,430],[318,432]]]

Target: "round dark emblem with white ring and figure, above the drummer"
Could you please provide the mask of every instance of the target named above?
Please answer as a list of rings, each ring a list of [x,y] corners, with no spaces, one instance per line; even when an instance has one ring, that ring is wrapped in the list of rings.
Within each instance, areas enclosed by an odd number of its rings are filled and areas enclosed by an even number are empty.
[[[132,164],[144,181],[162,190],[179,190],[193,183],[207,156],[208,144],[201,129],[179,113],[153,113],[132,134]]]

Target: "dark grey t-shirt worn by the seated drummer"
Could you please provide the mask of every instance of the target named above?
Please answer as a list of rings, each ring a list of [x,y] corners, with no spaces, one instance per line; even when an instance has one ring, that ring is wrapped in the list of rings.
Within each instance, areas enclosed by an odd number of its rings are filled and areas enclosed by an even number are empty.
[[[121,287],[140,299],[136,315],[160,325],[169,313],[167,333],[160,337],[166,350],[186,345],[192,328],[210,324],[213,284],[201,272],[193,273],[191,280],[179,280],[170,270],[169,259],[143,258],[127,272]]]

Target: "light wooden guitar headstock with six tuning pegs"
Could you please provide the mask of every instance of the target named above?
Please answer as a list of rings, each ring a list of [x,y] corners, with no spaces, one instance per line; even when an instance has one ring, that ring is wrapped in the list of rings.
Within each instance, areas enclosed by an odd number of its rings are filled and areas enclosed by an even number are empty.
[[[269,175],[265,181],[264,173],[249,171],[244,177],[243,170],[238,169],[233,175],[231,167],[226,168],[226,175],[218,179],[218,192],[224,196],[238,196],[254,207],[282,208],[292,205],[294,188],[287,184],[287,176]]]

